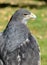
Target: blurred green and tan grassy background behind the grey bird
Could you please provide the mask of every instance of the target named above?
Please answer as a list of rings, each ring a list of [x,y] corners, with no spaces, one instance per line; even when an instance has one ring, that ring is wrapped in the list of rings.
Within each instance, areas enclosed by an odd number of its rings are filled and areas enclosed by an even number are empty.
[[[19,8],[26,8],[37,16],[27,26],[39,42],[41,65],[47,65],[47,0],[0,0],[0,32]]]

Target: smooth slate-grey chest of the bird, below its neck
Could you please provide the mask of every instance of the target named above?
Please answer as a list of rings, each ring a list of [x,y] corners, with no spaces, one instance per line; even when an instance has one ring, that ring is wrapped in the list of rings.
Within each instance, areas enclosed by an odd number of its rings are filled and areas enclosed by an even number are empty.
[[[8,28],[6,36],[6,48],[9,51],[15,50],[28,38],[28,29],[24,25],[16,25],[16,28]],[[10,30],[9,30],[10,29]]]

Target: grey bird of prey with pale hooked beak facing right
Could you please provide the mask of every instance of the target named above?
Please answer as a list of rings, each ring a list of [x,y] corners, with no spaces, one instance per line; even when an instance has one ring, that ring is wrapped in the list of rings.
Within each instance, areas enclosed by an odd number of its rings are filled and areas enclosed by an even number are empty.
[[[0,65],[39,65],[39,46],[26,26],[36,16],[19,9],[11,17],[6,29],[0,33]]]

